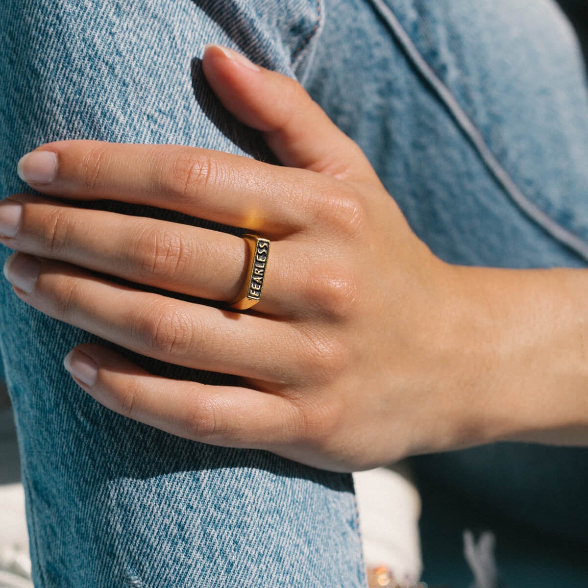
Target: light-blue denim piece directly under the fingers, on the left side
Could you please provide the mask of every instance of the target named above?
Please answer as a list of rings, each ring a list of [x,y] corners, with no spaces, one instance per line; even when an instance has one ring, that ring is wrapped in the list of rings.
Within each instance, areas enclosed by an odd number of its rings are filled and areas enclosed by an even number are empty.
[[[271,161],[206,85],[203,46],[220,42],[302,77],[321,16],[316,0],[2,2],[2,194],[27,190],[18,158],[55,139],[182,143]],[[8,255],[0,249],[2,263]],[[29,308],[4,279],[0,302],[36,586],[365,585],[350,475],[192,443],[116,415],[62,366],[69,349],[98,338]],[[153,373],[230,381],[128,356]]]

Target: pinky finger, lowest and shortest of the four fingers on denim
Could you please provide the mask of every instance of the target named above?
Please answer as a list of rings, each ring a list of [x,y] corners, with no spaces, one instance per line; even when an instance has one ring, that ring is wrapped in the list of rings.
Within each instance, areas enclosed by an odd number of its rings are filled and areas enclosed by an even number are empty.
[[[282,396],[154,376],[92,343],[72,349],[64,366],[102,405],[173,435],[266,450],[295,441],[298,411]]]

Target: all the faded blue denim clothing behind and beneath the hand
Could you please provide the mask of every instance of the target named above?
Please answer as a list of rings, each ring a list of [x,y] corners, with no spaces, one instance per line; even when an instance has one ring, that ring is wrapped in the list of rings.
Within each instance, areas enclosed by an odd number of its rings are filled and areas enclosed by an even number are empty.
[[[1,3],[0,31],[4,195],[27,190],[19,156],[56,139],[275,162],[203,80],[203,46],[220,42],[298,78],[441,258],[588,261],[583,65],[549,0],[19,0]],[[8,255],[0,246],[0,262]],[[112,413],[62,368],[73,346],[105,342],[29,308],[5,281],[0,301],[36,585],[365,586],[350,475]],[[152,373],[231,381],[125,355]]]

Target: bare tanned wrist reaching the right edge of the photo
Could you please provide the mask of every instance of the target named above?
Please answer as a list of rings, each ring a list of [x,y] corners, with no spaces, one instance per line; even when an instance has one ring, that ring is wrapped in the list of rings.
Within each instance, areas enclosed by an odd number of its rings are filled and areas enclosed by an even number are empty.
[[[588,439],[588,272],[454,266],[461,446]]]

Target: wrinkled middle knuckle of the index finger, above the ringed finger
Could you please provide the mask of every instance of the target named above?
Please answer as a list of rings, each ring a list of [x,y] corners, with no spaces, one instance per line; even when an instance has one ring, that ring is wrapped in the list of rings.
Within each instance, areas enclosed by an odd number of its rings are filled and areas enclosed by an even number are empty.
[[[165,195],[175,201],[192,201],[199,191],[216,183],[218,162],[205,153],[181,149],[172,155],[169,173],[163,180]]]

